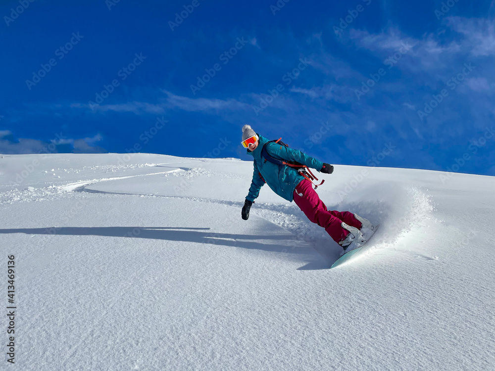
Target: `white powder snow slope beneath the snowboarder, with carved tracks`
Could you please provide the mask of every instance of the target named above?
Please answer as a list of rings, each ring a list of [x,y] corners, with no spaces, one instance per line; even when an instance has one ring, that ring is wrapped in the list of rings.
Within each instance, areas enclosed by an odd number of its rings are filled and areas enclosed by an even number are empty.
[[[336,165],[320,197],[382,227],[329,270],[268,186],[241,219],[252,163],[122,159],[0,159],[1,370],[495,369],[495,178]]]

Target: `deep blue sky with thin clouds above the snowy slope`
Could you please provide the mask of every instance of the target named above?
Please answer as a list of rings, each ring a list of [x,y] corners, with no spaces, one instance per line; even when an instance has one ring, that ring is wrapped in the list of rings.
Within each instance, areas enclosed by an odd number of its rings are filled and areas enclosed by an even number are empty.
[[[495,175],[494,0],[18,0],[0,15],[0,153],[249,159],[250,124],[331,164]]]

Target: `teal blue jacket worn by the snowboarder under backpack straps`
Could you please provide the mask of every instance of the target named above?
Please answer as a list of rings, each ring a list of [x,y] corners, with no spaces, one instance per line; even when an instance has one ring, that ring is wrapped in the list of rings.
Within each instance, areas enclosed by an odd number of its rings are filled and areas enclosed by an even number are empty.
[[[261,149],[263,145],[269,141],[258,134],[259,144],[254,151],[247,150],[247,153],[254,157],[254,171],[252,174],[251,186],[249,187],[249,193],[246,199],[254,201],[258,197],[259,190],[266,184],[280,197],[285,198],[288,201],[294,200],[294,189],[304,179],[302,175],[297,173],[297,169],[282,165],[278,166],[270,161],[265,161],[261,158]],[[275,142],[268,143],[266,150],[275,158],[285,161],[297,161],[309,168],[316,169],[318,171],[323,167],[323,162],[309,157],[306,154],[280,145]],[[263,177],[263,178],[261,178]]]

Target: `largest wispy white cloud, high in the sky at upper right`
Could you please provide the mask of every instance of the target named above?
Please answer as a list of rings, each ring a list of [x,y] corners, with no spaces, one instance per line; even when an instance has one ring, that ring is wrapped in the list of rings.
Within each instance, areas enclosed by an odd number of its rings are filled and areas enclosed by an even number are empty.
[[[414,76],[419,94],[424,89],[437,91],[439,87],[445,86],[463,71],[464,63],[472,63],[475,72],[473,76],[469,76],[469,80],[463,82],[457,93],[467,94],[472,91],[490,93],[491,87],[495,86],[495,74],[493,62],[486,57],[495,55],[495,20],[446,17],[443,25],[442,32],[425,33],[419,38],[412,38],[393,27],[376,34],[367,30],[351,29],[347,40],[339,40],[342,43],[350,41],[359,48],[369,51],[370,60],[379,58],[384,62],[384,66],[390,64],[391,55],[399,56],[399,60],[393,63],[392,68],[400,71],[401,76]],[[414,47],[400,56],[397,51],[400,51],[404,44]],[[386,63],[387,61],[389,63]],[[386,66],[385,70],[388,72]],[[376,71],[370,70],[369,73]],[[483,76],[480,77],[480,74]],[[364,78],[368,78],[366,73],[362,74],[361,80]],[[371,94],[379,91],[391,93],[400,86],[407,89],[408,83],[403,79],[395,79],[389,83],[386,77],[383,83],[377,84]],[[409,100],[414,101],[414,99]],[[477,103],[473,102],[473,104]]]

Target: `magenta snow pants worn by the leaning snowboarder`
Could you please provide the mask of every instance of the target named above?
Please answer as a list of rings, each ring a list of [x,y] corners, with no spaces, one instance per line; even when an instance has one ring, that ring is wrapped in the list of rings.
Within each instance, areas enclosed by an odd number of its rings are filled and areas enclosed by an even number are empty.
[[[294,189],[294,202],[312,223],[325,228],[325,231],[337,243],[346,238],[349,233],[342,228],[342,222],[357,229],[362,228],[361,222],[354,218],[354,214],[348,211],[327,210],[318,193],[313,189],[312,183],[307,179],[303,179]]]

